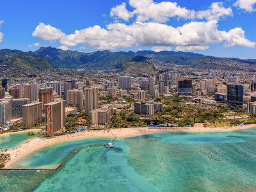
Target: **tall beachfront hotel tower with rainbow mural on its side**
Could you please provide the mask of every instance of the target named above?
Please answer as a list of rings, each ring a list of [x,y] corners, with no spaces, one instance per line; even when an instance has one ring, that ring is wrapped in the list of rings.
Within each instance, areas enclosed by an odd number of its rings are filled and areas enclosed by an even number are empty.
[[[55,99],[54,102],[45,104],[45,129],[47,134],[53,134],[65,127],[65,102]]]

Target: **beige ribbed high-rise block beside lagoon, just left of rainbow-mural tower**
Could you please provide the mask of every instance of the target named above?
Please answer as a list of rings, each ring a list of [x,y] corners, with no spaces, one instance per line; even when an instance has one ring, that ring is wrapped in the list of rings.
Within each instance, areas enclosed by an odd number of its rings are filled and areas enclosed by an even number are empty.
[[[27,127],[38,124],[42,120],[42,102],[33,102],[22,106],[23,124]]]

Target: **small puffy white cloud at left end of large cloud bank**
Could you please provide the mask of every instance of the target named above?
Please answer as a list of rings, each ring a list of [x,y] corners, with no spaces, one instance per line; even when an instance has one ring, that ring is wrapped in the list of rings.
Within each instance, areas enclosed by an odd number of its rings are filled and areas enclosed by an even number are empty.
[[[65,36],[65,33],[49,24],[45,25],[44,23],[40,22],[39,25],[36,26],[36,29],[32,35],[44,40],[58,40]]]

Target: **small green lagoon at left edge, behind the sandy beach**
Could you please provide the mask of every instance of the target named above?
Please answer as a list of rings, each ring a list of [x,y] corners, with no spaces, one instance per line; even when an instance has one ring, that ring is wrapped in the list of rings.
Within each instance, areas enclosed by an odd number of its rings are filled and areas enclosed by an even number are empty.
[[[1,136],[0,134],[0,150],[16,147],[24,141],[29,140],[30,138],[34,138],[36,136],[38,136],[37,133],[33,136],[28,136],[28,132],[8,134],[4,136]]]

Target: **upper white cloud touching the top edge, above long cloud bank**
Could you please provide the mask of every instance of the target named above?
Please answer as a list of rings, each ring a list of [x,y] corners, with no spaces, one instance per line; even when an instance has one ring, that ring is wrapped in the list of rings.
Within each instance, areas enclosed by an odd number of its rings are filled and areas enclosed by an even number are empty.
[[[126,4],[122,3],[111,9],[111,16],[128,21],[136,15],[136,20],[167,22],[170,18],[177,19],[206,19],[219,20],[221,17],[232,16],[232,8],[225,8],[222,2],[214,2],[207,10],[198,11],[188,10],[186,7],[180,7],[175,2],[162,1],[155,3],[153,0],[130,0],[129,4],[134,8],[134,11],[129,12],[126,9]]]

